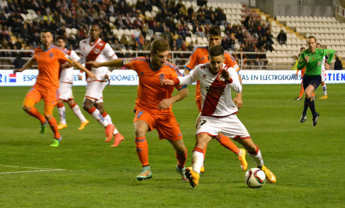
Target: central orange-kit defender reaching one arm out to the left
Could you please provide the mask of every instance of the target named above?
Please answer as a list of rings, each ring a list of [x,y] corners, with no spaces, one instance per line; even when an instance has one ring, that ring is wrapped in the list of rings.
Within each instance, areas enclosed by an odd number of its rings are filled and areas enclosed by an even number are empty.
[[[160,86],[163,79],[174,79],[182,76],[178,68],[166,61],[169,54],[169,45],[163,39],[155,39],[150,45],[150,58],[118,58],[103,63],[89,61],[93,68],[97,67],[126,67],[135,70],[139,76],[135,118],[135,142],[139,159],[142,163],[142,172],[138,180],[152,177],[148,163],[148,146],[146,132],[157,129],[160,139],[167,139],[175,150],[178,160],[176,170],[181,174],[182,180],[188,181],[184,172],[187,159],[187,149],[184,146],[179,124],[171,111],[172,103],[182,100],[188,95],[186,86],[176,87],[179,92],[171,96],[173,86]]]

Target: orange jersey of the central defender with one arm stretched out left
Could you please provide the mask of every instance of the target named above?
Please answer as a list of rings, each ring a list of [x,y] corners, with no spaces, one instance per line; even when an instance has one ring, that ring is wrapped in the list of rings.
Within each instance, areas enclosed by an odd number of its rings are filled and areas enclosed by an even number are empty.
[[[178,68],[168,61],[165,61],[165,65],[158,70],[151,68],[150,58],[146,57],[125,58],[122,60],[122,64],[124,67],[137,72],[139,86],[136,106],[149,111],[161,112],[157,106],[163,99],[170,98],[174,91],[174,86],[161,87],[161,80],[183,76]],[[175,87],[181,90],[186,86]],[[171,106],[166,110],[171,110]]]

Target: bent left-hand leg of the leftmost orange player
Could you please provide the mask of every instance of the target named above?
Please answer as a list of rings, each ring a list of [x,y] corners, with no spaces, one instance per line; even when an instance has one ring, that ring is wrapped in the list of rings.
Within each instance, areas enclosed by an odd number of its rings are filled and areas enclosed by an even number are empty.
[[[41,122],[41,134],[45,133],[47,130],[47,120],[46,118],[34,107],[34,105],[42,99],[41,93],[35,89],[31,88],[26,94],[23,101],[23,110],[30,116],[37,118]]]

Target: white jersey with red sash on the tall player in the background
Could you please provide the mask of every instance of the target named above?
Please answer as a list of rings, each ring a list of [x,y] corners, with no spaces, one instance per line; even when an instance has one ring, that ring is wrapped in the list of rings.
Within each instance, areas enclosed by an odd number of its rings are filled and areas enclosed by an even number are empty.
[[[98,38],[94,43],[90,43],[90,38],[83,39],[80,41],[79,47],[81,50],[81,64],[92,60],[102,63],[110,59],[118,58],[110,45],[101,38]],[[97,77],[98,81],[106,81],[104,77],[108,71],[108,67],[99,67],[95,69],[86,65],[85,68],[90,70]],[[86,80],[92,81],[90,78]]]

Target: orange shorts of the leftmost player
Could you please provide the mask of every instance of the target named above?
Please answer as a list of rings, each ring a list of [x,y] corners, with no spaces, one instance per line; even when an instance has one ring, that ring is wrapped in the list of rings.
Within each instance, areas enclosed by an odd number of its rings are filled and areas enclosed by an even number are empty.
[[[33,86],[26,94],[25,99],[31,99],[35,103],[43,99],[45,106],[55,106],[57,104],[57,99],[59,99],[59,91],[57,89]]]

